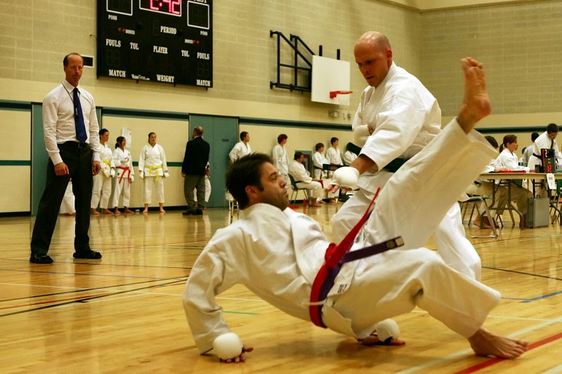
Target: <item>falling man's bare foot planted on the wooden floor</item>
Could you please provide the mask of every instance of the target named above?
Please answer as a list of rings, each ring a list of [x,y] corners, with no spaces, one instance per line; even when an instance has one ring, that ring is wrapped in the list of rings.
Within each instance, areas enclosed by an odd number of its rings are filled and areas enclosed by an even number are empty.
[[[480,328],[469,338],[470,346],[478,356],[495,356],[500,359],[516,359],[527,351],[526,340],[500,336]]]

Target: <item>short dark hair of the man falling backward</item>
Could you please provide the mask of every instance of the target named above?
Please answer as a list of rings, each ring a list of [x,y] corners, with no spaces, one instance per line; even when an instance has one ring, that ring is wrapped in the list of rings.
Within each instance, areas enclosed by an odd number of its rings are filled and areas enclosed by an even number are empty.
[[[246,194],[247,186],[256,186],[263,191],[261,184],[261,166],[264,163],[273,163],[270,156],[263,153],[252,153],[234,161],[226,172],[226,188],[234,196],[240,209],[248,206],[249,199]]]

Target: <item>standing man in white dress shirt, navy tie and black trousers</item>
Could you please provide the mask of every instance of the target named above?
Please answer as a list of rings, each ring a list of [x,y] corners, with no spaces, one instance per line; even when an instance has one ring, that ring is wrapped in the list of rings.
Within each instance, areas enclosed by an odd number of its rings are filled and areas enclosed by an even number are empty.
[[[76,207],[73,256],[90,260],[101,258],[101,253],[90,248],[88,235],[93,175],[100,172],[100,126],[92,95],[79,87],[83,67],[81,55],[66,55],[63,60],[66,79],[43,101],[43,131],[49,161],[31,238],[30,262],[36,264],[53,262],[47,252],[70,178]]]

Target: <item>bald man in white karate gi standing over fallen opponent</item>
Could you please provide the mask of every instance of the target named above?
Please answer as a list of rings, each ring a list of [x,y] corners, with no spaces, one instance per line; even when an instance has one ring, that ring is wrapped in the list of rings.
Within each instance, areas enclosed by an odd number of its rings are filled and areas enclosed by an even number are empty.
[[[355,144],[362,145],[362,151],[350,166],[358,175],[359,191],[332,218],[336,243],[361,218],[377,188],[441,131],[436,98],[419,79],[393,62],[391,44],[384,34],[366,32],[353,52],[369,86],[361,93],[353,119]],[[334,182],[338,182],[337,173]],[[433,237],[447,265],[480,279],[481,260],[466,239],[458,204],[447,212]]]

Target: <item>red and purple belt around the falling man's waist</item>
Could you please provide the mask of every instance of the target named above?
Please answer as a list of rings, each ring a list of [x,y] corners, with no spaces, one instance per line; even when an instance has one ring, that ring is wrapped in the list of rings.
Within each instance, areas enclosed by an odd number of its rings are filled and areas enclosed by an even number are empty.
[[[348,232],[346,237],[337,245],[336,243],[329,243],[326,249],[326,254],[324,256],[325,262],[318,274],[314,279],[311,290],[311,302],[308,307],[308,313],[311,316],[311,321],[319,327],[326,328],[327,326],[322,322],[322,305],[324,304],[329,290],[334,286],[334,281],[341,265],[346,262],[359,260],[360,258],[366,258],[377,253],[383,253],[393,248],[404,245],[404,241],[401,236],[384,241],[382,243],[374,244],[373,246],[368,246],[365,248],[358,249],[357,251],[349,252],[353,241],[355,241],[355,236],[357,236],[361,227],[365,224],[365,221],[370,217],[372,213],[372,205],[374,200],[379,196],[380,188],[377,189],[377,193],[374,195],[371,203],[367,207],[367,211],[363,214],[362,218],[357,222],[353,229]]]

